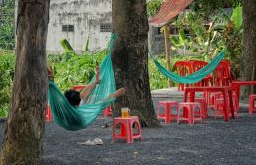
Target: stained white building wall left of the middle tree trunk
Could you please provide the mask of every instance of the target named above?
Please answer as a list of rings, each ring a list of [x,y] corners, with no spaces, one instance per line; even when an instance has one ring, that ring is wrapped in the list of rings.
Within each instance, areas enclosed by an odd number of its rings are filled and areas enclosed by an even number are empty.
[[[88,38],[89,50],[106,48],[110,32],[100,32],[100,24],[111,23],[111,14],[111,0],[51,0],[47,51],[62,52],[62,39],[77,52],[83,50]],[[62,31],[63,25],[74,25],[74,31]]]

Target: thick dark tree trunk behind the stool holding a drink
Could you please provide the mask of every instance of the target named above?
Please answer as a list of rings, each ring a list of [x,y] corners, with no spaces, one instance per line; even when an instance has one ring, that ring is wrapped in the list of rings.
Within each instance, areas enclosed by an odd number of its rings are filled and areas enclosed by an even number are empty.
[[[113,32],[117,40],[112,52],[117,88],[127,92],[113,105],[114,116],[121,107],[140,118],[142,126],[159,125],[153,107],[148,75],[148,18],[146,0],[113,0]]]

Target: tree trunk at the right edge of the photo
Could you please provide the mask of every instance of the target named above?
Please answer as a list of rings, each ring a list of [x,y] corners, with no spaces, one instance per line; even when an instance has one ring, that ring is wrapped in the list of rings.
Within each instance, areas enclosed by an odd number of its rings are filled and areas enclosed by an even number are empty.
[[[243,61],[242,77],[245,80],[256,80],[256,1],[244,0],[243,6]],[[254,72],[253,72],[254,71]],[[255,90],[254,90],[255,93]]]

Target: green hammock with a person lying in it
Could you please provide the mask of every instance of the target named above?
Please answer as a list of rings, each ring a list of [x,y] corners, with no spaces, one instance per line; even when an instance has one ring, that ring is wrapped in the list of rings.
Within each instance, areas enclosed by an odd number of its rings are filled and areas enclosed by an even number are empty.
[[[88,102],[78,107],[70,105],[57,85],[50,81],[48,100],[54,122],[67,130],[80,130],[90,125],[96,117],[115,99],[106,98],[116,91],[114,72],[111,61],[111,50],[116,35],[112,35],[110,50],[100,65],[100,84],[96,85]],[[96,75],[89,84],[93,83]]]

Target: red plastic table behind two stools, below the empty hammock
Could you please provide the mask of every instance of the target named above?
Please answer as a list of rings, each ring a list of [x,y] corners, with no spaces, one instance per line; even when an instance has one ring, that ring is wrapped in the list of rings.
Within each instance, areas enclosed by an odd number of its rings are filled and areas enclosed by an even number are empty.
[[[196,92],[221,92],[224,96],[224,120],[225,121],[229,120],[229,106],[230,106],[232,118],[234,119],[232,90],[230,87],[228,86],[187,87],[185,88],[185,91],[184,91],[184,102],[187,102],[189,93],[190,93],[189,101],[194,102]],[[230,101],[228,101],[228,96]]]

